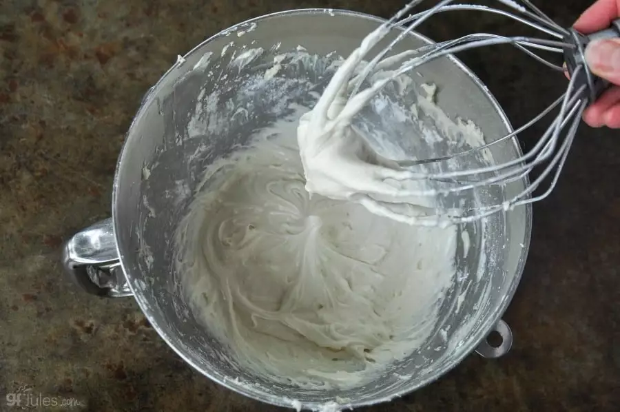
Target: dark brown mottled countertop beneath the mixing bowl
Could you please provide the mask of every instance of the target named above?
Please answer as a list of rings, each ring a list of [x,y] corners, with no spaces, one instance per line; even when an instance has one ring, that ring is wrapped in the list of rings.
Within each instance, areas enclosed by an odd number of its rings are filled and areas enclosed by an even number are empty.
[[[570,25],[588,0],[545,3]],[[0,411],[6,395],[76,399],[88,411],[273,411],[187,366],[132,298],[87,296],[59,249],[110,213],[123,136],[147,88],[206,37],[304,7],[387,16],[386,0],[0,1]],[[518,33],[452,14],[426,31]],[[463,56],[518,125],[559,96],[561,75],[518,52]],[[524,134],[531,145],[540,128]],[[524,278],[505,319],[512,351],[468,357],[440,382],[367,411],[618,411],[620,132],[582,127],[559,185],[535,206]],[[21,388],[22,393],[25,389]],[[51,399],[51,398],[50,398]],[[50,410],[52,410],[51,408]],[[64,410],[57,408],[57,410]]]

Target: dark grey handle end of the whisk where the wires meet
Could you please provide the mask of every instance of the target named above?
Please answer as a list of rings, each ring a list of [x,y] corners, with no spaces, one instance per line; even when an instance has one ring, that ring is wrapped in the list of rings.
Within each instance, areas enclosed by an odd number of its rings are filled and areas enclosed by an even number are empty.
[[[568,32],[564,38],[564,41],[571,45],[570,48],[564,49],[564,61],[566,62],[568,74],[572,77],[575,70],[581,67],[581,70],[577,73],[577,79],[575,79],[575,87],[579,89],[582,85],[587,85],[590,102],[595,101],[609,87],[610,83],[593,74],[590,68],[588,68],[585,56],[586,46],[590,41],[619,39],[620,19],[612,21],[608,29],[601,30],[600,32],[586,35],[577,32],[573,28],[569,29]]]

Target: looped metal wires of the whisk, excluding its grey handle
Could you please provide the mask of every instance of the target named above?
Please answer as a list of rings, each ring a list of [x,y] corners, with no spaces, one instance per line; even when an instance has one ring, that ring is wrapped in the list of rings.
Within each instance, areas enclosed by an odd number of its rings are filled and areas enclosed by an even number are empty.
[[[389,45],[383,48],[373,59],[369,61],[362,70],[356,74],[349,83],[347,83],[347,92],[349,98],[344,103],[344,107],[339,114],[339,120],[344,123],[350,122],[352,117],[355,116],[357,110],[355,107],[360,107],[365,103],[369,103],[373,97],[382,90],[382,88],[395,81],[399,76],[402,76],[412,70],[419,68],[421,65],[440,59],[444,56],[451,56],[458,52],[471,50],[474,48],[481,48],[490,45],[513,45],[531,58],[543,63],[549,68],[556,71],[563,71],[561,65],[553,63],[544,56],[539,55],[537,52],[550,52],[552,54],[562,54],[566,56],[566,53],[570,53],[571,50],[577,50],[580,44],[575,43],[575,39],[570,37],[569,30],[561,28],[552,19],[550,19],[544,12],[539,10],[529,0],[521,0],[521,2],[513,0],[498,0],[504,6],[513,10],[513,12],[502,10],[500,8],[492,8],[488,6],[472,5],[472,4],[454,4],[453,0],[443,0],[437,3],[434,7],[417,12],[402,19],[402,16],[409,12],[413,7],[421,3],[422,0],[413,0],[402,8],[392,19],[384,23],[377,32],[380,36],[375,37],[373,44],[362,43],[363,48],[358,49],[360,55],[355,56],[355,59],[361,61],[364,56],[371,50],[371,48],[383,39],[389,30],[393,27],[402,27],[408,25],[402,30],[398,36],[393,39]],[[394,56],[386,57],[393,47],[404,37],[409,35],[415,28],[421,23],[429,19],[436,13],[447,12],[452,10],[473,10],[482,11],[488,13],[495,13],[513,19],[519,23],[528,25],[530,28],[534,28],[541,33],[547,34],[553,39],[543,39],[538,37],[527,36],[502,36],[500,34],[489,33],[474,33],[466,34],[463,37],[457,39],[451,39],[448,41],[442,41],[432,45],[424,45],[415,50],[407,50]],[[572,33],[574,34],[574,33]],[[573,36],[574,37],[574,36]],[[361,51],[360,51],[361,50]],[[536,52],[535,52],[536,51]],[[392,72],[389,72],[387,76],[380,79],[373,79],[370,87],[360,91],[362,83],[368,76],[371,76],[378,72],[396,65],[400,65]],[[588,93],[591,94],[591,90],[588,90],[588,85],[581,82],[577,82],[579,77],[583,77],[583,70],[586,74],[589,70],[583,65],[577,65],[572,71],[570,81],[568,81],[568,87],[566,92],[562,94],[558,99],[551,103],[545,110],[537,114],[533,119],[519,127],[517,130],[505,134],[489,143],[481,145],[479,147],[473,147],[470,150],[459,152],[456,154],[450,154],[448,156],[437,156],[435,158],[416,159],[397,161],[397,165],[403,168],[403,171],[392,171],[393,173],[386,173],[384,179],[392,179],[395,181],[404,181],[408,179],[412,180],[427,180],[440,183],[448,183],[448,185],[440,185],[438,188],[432,189],[394,189],[395,198],[404,198],[406,196],[437,196],[437,195],[449,195],[466,192],[468,190],[477,189],[480,187],[489,187],[492,185],[499,185],[504,187],[513,181],[524,181],[526,185],[518,194],[512,196],[508,200],[502,201],[495,205],[488,205],[485,207],[476,207],[467,211],[465,214],[452,215],[445,214],[438,211],[434,216],[422,216],[419,218],[423,224],[431,224],[437,222],[438,218],[448,219],[453,223],[467,223],[479,218],[484,218],[499,212],[501,210],[512,209],[519,205],[526,205],[534,203],[537,200],[541,200],[549,196],[552,190],[557,185],[559,175],[563,169],[570,147],[575,139],[577,128],[579,127],[580,119],[588,105]],[[591,87],[590,87],[591,88]],[[331,91],[334,93],[335,91]],[[328,99],[329,100],[329,99]],[[333,100],[333,99],[332,99]],[[448,172],[428,172],[426,166],[432,163],[449,161],[458,156],[471,155],[475,153],[485,154],[484,150],[490,150],[490,147],[497,145],[498,143],[507,141],[509,138],[515,138],[518,134],[533,127],[536,123],[544,119],[550,112],[559,109],[559,113],[550,122],[550,125],[546,128],[542,136],[536,141],[535,145],[524,154],[520,154],[519,157],[513,158],[513,160],[506,161],[499,164],[485,165],[482,167],[473,167],[465,169],[456,169]],[[348,124],[348,123],[347,123]],[[340,125],[341,126],[341,125]],[[566,128],[568,127],[568,131]],[[564,136],[562,135],[563,133]],[[545,164],[544,169],[532,183],[527,182],[528,175],[533,170],[541,165]],[[549,187],[538,194],[533,196],[538,189],[541,189],[541,185],[547,178],[551,178]],[[373,203],[370,194],[360,194],[360,200],[362,203]],[[365,197],[364,197],[365,196]],[[404,217],[397,216],[391,212],[389,208],[384,205],[378,205],[373,203],[373,207],[380,208],[386,216],[392,216],[396,220],[402,220]],[[417,218],[416,218],[417,219]]]

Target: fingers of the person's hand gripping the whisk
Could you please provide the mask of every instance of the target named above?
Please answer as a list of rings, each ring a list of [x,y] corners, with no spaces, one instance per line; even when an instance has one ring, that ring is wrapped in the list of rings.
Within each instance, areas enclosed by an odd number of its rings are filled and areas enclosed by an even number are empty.
[[[609,28],[620,17],[620,0],[597,0],[575,22],[583,34]],[[620,128],[620,39],[592,41],[586,48],[586,62],[597,76],[613,85],[583,113],[591,127]]]

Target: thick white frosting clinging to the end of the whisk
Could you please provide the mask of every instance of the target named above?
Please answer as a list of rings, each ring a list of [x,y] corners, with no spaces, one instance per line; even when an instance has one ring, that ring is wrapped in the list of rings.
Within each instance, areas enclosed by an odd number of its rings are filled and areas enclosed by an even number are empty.
[[[364,38],[335,72],[313,109],[300,119],[297,136],[305,187],[311,194],[353,201],[373,214],[402,223],[446,226],[450,220],[434,213],[435,191],[424,185],[422,175],[375,152],[351,125],[373,96],[394,80],[382,76],[349,97],[366,65],[362,59],[385,30],[380,26]],[[404,52],[384,62],[395,64],[411,54]]]

